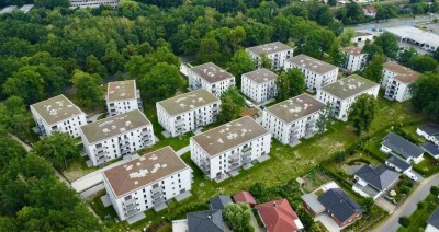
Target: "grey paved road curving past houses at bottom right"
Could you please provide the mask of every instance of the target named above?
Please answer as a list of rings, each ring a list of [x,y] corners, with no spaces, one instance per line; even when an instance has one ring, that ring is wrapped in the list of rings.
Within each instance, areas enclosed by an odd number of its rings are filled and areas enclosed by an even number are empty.
[[[399,228],[399,217],[402,216],[410,216],[416,210],[416,205],[419,201],[423,201],[429,194],[430,187],[434,185],[439,185],[439,174],[432,175],[426,179],[424,179],[419,186],[417,186],[416,190],[404,201],[404,204],[395,210],[395,212],[379,224],[373,231],[381,232],[393,232]]]

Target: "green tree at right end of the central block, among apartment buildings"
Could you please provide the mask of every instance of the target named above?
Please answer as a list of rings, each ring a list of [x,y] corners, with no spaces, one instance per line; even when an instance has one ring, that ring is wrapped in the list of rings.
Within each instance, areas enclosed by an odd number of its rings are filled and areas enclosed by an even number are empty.
[[[225,124],[237,118],[246,105],[246,100],[236,88],[228,88],[221,96],[221,111],[217,121]]]

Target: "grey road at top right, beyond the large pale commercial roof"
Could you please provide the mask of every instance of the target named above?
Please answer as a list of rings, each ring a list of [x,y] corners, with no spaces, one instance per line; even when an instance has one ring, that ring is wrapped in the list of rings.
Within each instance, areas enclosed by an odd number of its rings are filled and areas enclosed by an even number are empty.
[[[415,19],[391,19],[389,21],[381,21],[379,23],[368,23],[368,24],[360,24],[360,25],[352,25],[349,26],[356,31],[371,31],[372,28],[385,28],[385,27],[394,27],[394,26],[404,26],[404,25],[414,25],[417,23],[423,22],[430,22],[430,15],[419,15]]]

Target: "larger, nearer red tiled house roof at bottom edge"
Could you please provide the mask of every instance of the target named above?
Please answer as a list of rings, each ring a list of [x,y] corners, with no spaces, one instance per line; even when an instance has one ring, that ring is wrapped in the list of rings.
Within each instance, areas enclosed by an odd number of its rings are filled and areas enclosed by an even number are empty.
[[[286,199],[269,201],[256,206],[268,232],[291,232],[299,228],[294,220],[297,214]]]

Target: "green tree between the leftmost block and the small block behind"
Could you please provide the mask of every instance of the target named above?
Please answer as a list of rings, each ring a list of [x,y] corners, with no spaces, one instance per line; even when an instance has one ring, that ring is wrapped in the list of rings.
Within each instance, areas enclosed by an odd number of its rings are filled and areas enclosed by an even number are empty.
[[[79,105],[94,108],[101,103],[103,95],[101,89],[102,78],[99,74],[89,74],[81,70],[75,70],[71,82],[76,89],[75,97],[78,100]]]

